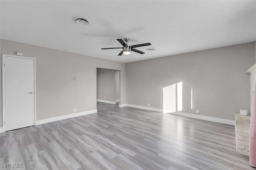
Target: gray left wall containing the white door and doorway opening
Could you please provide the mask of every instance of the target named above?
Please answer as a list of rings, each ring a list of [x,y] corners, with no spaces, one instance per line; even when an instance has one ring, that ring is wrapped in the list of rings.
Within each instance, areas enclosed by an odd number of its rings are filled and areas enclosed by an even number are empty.
[[[97,109],[97,67],[120,70],[121,104],[126,103],[125,63],[8,40],[0,40],[0,44],[0,53],[16,55],[20,51],[24,56],[36,58],[37,120],[72,114],[74,108],[76,112]],[[2,75],[2,59],[0,67]],[[2,127],[2,97],[0,105]]]

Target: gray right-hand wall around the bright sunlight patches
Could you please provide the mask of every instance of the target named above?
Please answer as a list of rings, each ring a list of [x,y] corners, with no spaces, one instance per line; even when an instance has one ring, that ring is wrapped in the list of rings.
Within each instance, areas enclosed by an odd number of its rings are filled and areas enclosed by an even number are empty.
[[[255,43],[244,43],[126,64],[126,103],[162,109],[163,88],[183,82],[184,113],[233,119],[249,110],[246,70],[254,65]],[[195,88],[194,110],[191,87]]]

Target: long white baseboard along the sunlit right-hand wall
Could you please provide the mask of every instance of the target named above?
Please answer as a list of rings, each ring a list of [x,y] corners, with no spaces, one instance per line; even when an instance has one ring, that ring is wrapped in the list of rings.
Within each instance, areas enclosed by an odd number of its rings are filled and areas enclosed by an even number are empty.
[[[130,105],[130,104],[123,104],[121,107],[134,107],[138,109],[145,109],[149,111],[156,111],[156,112],[163,112],[163,109],[158,109],[158,108],[153,108],[153,107],[146,107],[146,106],[139,106],[139,105]],[[120,105],[119,105],[120,107]],[[235,121],[233,120],[228,120],[228,119],[221,119],[221,118],[216,118],[216,117],[209,117],[209,116],[203,116],[203,115],[195,115],[191,113],[183,113],[183,112],[168,112],[164,111],[164,113],[172,114],[172,115],[178,115],[178,116],[184,116],[184,117],[190,117],[194,119],[201,119],[205,121],[212,121],[212,122],[217,122],[217,123],[223,123],[227,125],[235,125]]]

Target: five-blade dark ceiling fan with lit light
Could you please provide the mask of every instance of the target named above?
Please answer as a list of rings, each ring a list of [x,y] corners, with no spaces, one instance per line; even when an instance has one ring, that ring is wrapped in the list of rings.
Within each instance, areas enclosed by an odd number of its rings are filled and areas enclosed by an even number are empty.
[[[125,55],[128,55],[131,53],[131,51],[134,51],[136,53],[140,53],[140,54],[144,54],[144,52],[142,51],[139,51],[137,49],[134,49],[135,47],[142,47],[142,46],[147,46],[147,45],[151,45],[151,43],[142,43],[142,44],[137,44],[137,45],[128,45],[128,41],[129,41],[129,38],[124,38],[124,40],[122,39],[116,39],[118,42],[120,42],[123,47],[114,47],[114,48],[102,48],[102,49],[116,49],[116,48],[122,48],[123,50],[118,54],[118,55],[122,55],[122,54],[125,54]]]

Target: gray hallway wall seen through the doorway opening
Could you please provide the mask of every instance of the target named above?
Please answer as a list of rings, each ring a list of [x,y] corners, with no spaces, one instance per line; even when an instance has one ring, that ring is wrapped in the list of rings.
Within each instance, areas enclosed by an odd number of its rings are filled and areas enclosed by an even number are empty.
[[[112,69],[97,68],[97,99],[116,102],[115,76]]]

